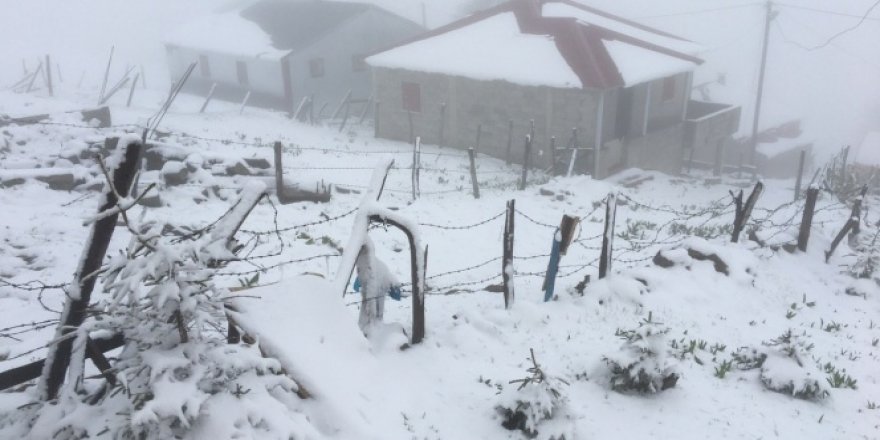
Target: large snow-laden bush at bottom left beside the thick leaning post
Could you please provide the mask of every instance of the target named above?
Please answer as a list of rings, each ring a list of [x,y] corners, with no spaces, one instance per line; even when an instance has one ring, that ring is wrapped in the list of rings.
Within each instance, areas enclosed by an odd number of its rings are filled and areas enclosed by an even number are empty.
[[[32,438],[308,438],[297,384],[258,347],[228,344],[216,269],[235,259],[230,240],[262,195],[246,188],[226,216],[187,236],[165,225],[138,227],[126,252],[101,274],[105,295],[76,332],[73,360],[57,402],[21,417]],[[84,381],[88,335],[121,334],[115,385]],[[0,422],[2,424],[2,422]]]

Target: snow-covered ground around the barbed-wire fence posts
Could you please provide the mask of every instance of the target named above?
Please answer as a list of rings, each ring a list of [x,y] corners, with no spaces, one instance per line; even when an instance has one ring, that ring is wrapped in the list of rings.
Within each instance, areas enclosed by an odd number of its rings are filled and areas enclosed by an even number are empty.
[[[62,98],[56,99],[40,93],[3,92],[0,113],[22,116],[81,108],[92,102],[94,93],[72,86],[62,87]],[[116,128],[72,127],[66,124],[82,123],[70,116],[59,116],[53,124],[6,127],[3,136],[9,143],[4,148],[8,149],[0,153],[3,172],[39,164],[89,176],[87,167],[60,158],[88,142],[131,129],[126,124],[143,125],[163,98],[161,93],[139,92],[131,109],[122,105],[122,97],[114,98]],[[291,377],[313,395],[285,407],[289,423],[307,425],[303,432],[312,437],[518,438],[522,434],[502,428],[497,406],[511,393],[516,395],[512,390],[517,385],[510,381],[526,376],[530,349],[548,374],[570,384],[567,403],[553,424],[545,425],[544,436],[554,432],[566,432],[566,438],[880,435],[880,413],[872,409],[880,395],[880,289],[844,274],[855,259],[845,242],[831,263],[825,263],[823,252],[849,212],[849,207],[827,195],[819,201],[805,254],[773,251],[748,240],[728,243],[734,216],[727,191],[738,187],[748,191],[750,186],[747,179],[735,176],[707,183],[700,175],[670,177],[630,170],[597,182],[589,177],[549,179],[536,173],[529,188],[518,191],[516,167],[480,157],[481,198],[475,200],[470,195],[466,155],[425,146],[421,197],[413,202],[411,147],[374,139],[369,126],[355,124],[339,133],[330,123],[309,126],[262,110],[246,109],[239,115],[237,105],[220,102],[200,115],[200,104],[198,97],[181,95],[160,127],[172,133],[164,142],[190,154],[188,163],[234,163],[241,158],[271,161],[270,146],[277,140],[284,144],[287,182],[304,182],[308,187],[323,180],[344,190],[336,189],[326,204],[282,206],[276,201],[258,205],[239,238],[250,243],[253,255],[267,256],[254,260],[256,266],[231,264],[216,279],[223,287],[237,287],[242,279],[260,273],[256,284],[264,287],[238,300],[245,310],[242,325],[258,333],[265,331],[258,334],[265,339],[264,350],[282,360]],[[389,326],[365,339],[356,324],[358,295],[349,291],[342,297],[341,292],[326,287],[326,281],[316,281],[335,277],[336,255],[351,234],[354,216],[336,217],[360,204],[374,165],[389,158],[395,160],[395,168],[381,204],[418,222],[421,238],[430,248],[426,338],[405,351],[398,347],[410,331],[409,298],[386,299]],[[207,169],[193,176],[190,184],[161,189],[163,207],[136,208],[134,217],[203,226],[225,212],[248,181],[273,185],[269,176],[227,177]],[[619,184],[635,176],[650,180],[632,188]],[[153,182],[162,182],[157,171],[145,173],[139,188]],[[774,211],[792,199],[792,182],[765,183],[767,189],[752,224],[769,243],[790,242],[803,201]],[[597,281],[602,202],[609,192],[623,195],[617,212],[615,262],[613,275]],[[53,191],[36,181],[0,190],[4,282],[69,282],[88,234],[83,220],[94,215],[96,199],[95,192]],[[519,210],[514,248],[516,302],[505,310],[501,294],[487,288],[501,280],[500,214],[509,199],[516,199]],[[872,204],[868,203],[871,225],[865,226],[866,235],[876,230]],[[547,254],[553,226],[563,214],[581,217],[582,226],[577,242],[562,258],[557,298],[544,303],[541,286]],[[280,235],[273,232],[276,222],[283,231]],[[307,223],[317,224],[297,227]],[[700,235],[708,241],[685,240],[686,235]],[[383,228],[372,230],[370,236],[379,258],[395,277],[408,280],[405,237]],[[259,241],[251,240],[256,238]],[[128,232],[117,228],[108,255],[128,240]],[[711,262],[688,257],[686,248],[717,254],[729,265],[729,273],[716,271]],[[660,250],[677,264],[671,268],[655,265],[651,257]],[[318,255],[329,256],[291,263]],[[586,275],[592,281],[578,293],[576,287]],[[847,294],[848,289],[861,296]],[[323,294],[322,299],[308,299],[315,292]],[[286,304],[283,298],[289,295],[305,296],[289,307],[274,307]],[[52,337],[53,320],[64,300],[60,290],[41,293],[0,286],[2,327],[25,325],[3,330],[0,353],[8,360],[0,362],[0,368],[44,356],[42,347]],[[267,306],[261,307],[260,301]],[[253,309],[250,314],[249,308]],[[312,310],[327,310],[332,319],[322,319]],[[660,350],[680,379],[676,387],[652,396],[613,391],[603,359],[621,352],[623,340],[616,332],[638,328],[649,317],[669,329]],[[46,326],[28,325],[43,321]],[[762,378],[771,372],[734,366],[719,373],[725,362],[737,365],[734,353],[742,353],[737,351],[741,347],[772,355],[776,349],[765,343],[788,329],[813,345],[805,368],[819,372],[816,379],[830,392],[827,398],[812,402],[768,391]],[[855,379],[855,389],[831,388],[825,380],[831,373],[824,368]],[[798,374],[784,373],[783,378]],[[32,398],[30,392],[0,394],[0,408],[15,419],[22,411],[16,408]],[[201,408],[207,416],[191,433],[231,436],[234,429],[217,431],[216,423],[209,421],[223,420],[227,414],[232,417],[239,411],[235,405],[232,400]],[[287,417],[283,414],[273,411],[264,416]],[[75,423],[94,436],[102,431],[102,420],[94,417]],[[47,433],[55,425],[40,426],[39,432]],[[21,425],[5,425],[5,429],[9,435],[24,435]]]

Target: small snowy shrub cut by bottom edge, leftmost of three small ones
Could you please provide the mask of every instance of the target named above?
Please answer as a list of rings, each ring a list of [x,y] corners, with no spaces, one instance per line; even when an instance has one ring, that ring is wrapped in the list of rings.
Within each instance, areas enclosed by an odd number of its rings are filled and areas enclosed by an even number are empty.
[[[496,410],[503,417],[501,425],[511,431],[522,431],[529,438],[563,440],[567,438],[565,424],[550,422],[560,419],[565,411],[568,382],[548,375],[535,359],[535,350],[530,351],[532,366],[526,370],[529,375],[510,381],[519,385],[499,393]]]

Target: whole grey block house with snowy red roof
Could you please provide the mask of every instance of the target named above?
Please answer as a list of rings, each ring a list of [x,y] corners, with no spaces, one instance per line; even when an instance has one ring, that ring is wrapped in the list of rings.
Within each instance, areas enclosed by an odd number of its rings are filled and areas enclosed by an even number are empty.
[[[479,130],[480,153],[522,163],[534,130],[544,169],[566,172],[576,149],[574,171],[597,178],[678,173],[684,121],[707,115],[688,113],[700,50],[574,1],[513,0],[368,57],[377,135],[468,148]]]

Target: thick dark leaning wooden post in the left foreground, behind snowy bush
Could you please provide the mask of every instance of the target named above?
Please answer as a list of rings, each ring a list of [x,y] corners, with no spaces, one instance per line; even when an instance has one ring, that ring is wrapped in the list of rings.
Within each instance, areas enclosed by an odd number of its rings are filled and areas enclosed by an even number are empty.
[[[127,196],[138,170],[143,145],[139,141],[131,142],[128,145],[118,145],[118,139],[108,138],[107,146],[125,149],[122,161],[112,171],[112,175],[113,186],[121,196]],[[99,214],[114,209],[118,202],[116,195],[109,190],[105,190],[103,198],[103,203],[98,210]],[[55,333],[55,339],[59,342],[49,347],[47,361],[43,366],[39,384],[40,398],[43,401],[55,399],[64,383],[75,339],[71,337],[71,333],[77,331],[86,317],[86,309],[97,281],[95,273],[101,268],[118,217],[119,214],[110,214],[92,225],[91,239],[80,259],[79,267],[74,275],[73,287],[67,293],[68,299],[64,304],[64,310],[61,312],[58,329]]]

